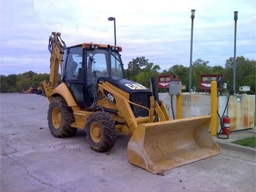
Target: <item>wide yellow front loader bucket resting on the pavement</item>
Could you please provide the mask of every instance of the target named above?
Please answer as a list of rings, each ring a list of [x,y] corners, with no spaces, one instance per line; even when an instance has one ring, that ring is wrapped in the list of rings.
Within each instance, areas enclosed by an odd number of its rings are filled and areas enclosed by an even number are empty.
[[[210,116],[197,116],[139,124],[128,143],[129,162],[159,173],[218,155],[210,122]]]

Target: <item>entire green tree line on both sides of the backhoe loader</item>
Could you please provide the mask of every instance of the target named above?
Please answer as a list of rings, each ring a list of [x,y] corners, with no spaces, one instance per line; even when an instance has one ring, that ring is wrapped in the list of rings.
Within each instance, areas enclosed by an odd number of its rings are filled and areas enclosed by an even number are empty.
[[[233,89],[233,63],[234,59],[230,57],[226,60],[225,67],[209,66],[209,61],[197,59],[192,63],[191,85],[199,90],[199,78],[202,74],[224,75],[228,81],[228,89]],[[236,92],[239,86],[250,86],[248,94],[255,94],[255,71],[256,61],[245,59],[243,56],[236,58]],[[173,65],[167,70],[159,72],[161,67],[149,62],[145,57],[137,57],[128,63],[126,78],[138,82],[147,87],[150,86],[150,77],[158,75],[177,75],[182,85],[186,85],[188,92],[189,85],[189,67],[183,65]],[[1,93],[20,92],[30,87],[38,88],[43,81],[48,82],[49,74],[37,74],[33,71],[27,71],[23,74],[1,75]],[[159,90],[161,92],[161,90]]]

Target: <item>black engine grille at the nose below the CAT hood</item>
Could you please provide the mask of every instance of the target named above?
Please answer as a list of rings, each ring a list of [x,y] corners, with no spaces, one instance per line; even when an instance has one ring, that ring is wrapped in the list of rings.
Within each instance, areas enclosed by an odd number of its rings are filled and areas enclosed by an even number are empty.
[[[133,92],[130,95],[130,101],[137,103],[143,107],[150,108],[150,95],[151,92]],[[148,116],[148,110],[141,107],[131,105],[133,114],[135,117],[146,117]]]

